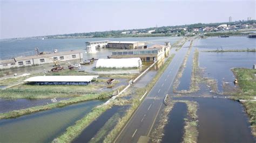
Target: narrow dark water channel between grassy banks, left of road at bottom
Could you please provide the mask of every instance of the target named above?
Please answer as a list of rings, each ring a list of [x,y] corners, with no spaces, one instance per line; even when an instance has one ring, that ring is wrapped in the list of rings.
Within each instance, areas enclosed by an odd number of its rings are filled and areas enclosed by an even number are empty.
[[[113,106],[86,127],[84,131],[75,140],[73,140],[73,142],[89,142],[93,137],[95,137],[100,128],[104,127],[107,120],[109,120],[115,113],[124,112],[126,109],[127,106]],[[103,139],[104,137],[102,137],[102,140]],[[99,139],[97,138],[97,140]]]

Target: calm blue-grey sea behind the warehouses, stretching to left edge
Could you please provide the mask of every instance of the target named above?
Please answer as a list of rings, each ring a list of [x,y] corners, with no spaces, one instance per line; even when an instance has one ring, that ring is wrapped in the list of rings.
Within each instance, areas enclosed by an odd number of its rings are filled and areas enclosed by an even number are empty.
[[[34,54],[35,48],[39,51],[53,52],[53,49],[58,51],[68,51],[75,49],[84,49],[85,42],[110,40],[110,41],[147,41],[152,44],[162,44],[165,41],[171,43],[176,42],[182,37],[147,37],[147,38],[69,38],[69,39],[4,39],[0,40],[0,59],[10,58],[12,56],[24,56]],[[26,52],[26,53],[25,53]],[[22,54],[21,54],[22,53]]]

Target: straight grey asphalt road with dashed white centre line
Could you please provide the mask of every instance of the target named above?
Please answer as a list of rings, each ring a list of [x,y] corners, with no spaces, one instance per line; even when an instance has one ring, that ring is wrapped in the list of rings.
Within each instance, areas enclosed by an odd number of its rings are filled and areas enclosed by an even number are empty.
[[[114,142],[137,142],[141,135],[149,136],[161,106],[164,106],[163,101],[166,94],[172,93],[174,78],[183,63],[189,46],[190,41],[187,41],[176,53],[170,65],[160,76]]]

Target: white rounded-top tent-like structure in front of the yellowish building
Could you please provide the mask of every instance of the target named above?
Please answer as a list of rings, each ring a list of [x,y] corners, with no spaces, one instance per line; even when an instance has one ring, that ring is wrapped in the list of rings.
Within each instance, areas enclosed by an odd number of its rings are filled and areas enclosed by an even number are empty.
[[[139,68],[142,66],[140,58],[99,59],[96,68]]]

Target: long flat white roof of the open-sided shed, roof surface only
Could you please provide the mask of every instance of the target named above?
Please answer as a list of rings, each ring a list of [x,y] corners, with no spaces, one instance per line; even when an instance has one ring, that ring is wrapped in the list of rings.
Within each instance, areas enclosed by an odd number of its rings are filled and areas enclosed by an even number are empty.
[[[98,75],[92,76],[34,76],[30,77],[25,82],[90,82]]]

